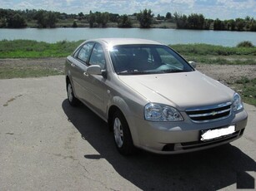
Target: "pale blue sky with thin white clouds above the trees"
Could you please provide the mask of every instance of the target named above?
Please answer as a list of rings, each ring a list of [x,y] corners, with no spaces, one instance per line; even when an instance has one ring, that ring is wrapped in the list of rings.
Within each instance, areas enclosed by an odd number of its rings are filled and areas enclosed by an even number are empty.
[[[202,13],[206,18],[222,20],[246,16],[256,19],[256,0],[0,0],[0,8],[44,9],[75,14],[111,12],[120,15],[133,14],[147,8],[155,16],[179,12],[185,15]]]

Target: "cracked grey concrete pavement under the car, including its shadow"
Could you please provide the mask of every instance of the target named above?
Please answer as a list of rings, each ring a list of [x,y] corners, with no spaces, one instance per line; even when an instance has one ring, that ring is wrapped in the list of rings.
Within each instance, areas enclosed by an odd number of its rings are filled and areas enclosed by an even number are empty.
[[[0,80],[0,190],[255,188],[256,107],[241,139],[191,154],[123,157],[107,124],[68,105],[64,76]]]

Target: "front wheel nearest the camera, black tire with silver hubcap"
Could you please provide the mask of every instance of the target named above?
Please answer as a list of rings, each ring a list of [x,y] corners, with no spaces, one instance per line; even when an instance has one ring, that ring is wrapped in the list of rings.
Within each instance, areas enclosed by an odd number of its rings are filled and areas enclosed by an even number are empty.
[[[112,120],[113,138],[118,152],[123,155],[133,154],[134,146],[131,132],[125,117],[116,111]]]

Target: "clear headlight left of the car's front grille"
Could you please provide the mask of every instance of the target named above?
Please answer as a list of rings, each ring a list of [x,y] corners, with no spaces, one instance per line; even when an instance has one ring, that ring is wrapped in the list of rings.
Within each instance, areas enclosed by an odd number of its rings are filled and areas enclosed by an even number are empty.
[[[156,104],[148,103],[144,108],[145,120],[152,121],[178,121],[183,120],[182,115],[175,108]]]

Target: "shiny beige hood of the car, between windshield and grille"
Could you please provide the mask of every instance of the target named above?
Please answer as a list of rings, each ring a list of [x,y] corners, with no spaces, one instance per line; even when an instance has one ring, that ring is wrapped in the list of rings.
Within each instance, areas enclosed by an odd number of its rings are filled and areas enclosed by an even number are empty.
[[[234,93],[199,71],[118,77],[148,102],[173,105],[179,110],[231,101]]]

